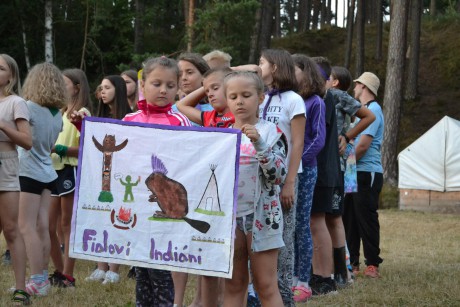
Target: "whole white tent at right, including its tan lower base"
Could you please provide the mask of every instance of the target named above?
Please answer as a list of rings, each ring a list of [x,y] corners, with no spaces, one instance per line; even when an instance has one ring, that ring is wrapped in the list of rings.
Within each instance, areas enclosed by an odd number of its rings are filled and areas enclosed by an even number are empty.
[[[460,121],[445,116],[398,160],[401,209],[460,214]]]

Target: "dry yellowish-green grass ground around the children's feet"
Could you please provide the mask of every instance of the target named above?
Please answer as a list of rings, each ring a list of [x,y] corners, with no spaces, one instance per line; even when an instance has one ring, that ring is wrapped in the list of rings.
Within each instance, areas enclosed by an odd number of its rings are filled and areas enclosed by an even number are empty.
[[[314,298],[308,306],[460,306],[460,216],[392,209],[380,211],[380,223],[382,277],[358,277],[338,295]],[[4,240],[0,245],[3,251]],[[125,277],[126,266],[121,267],[122,282],[108,286],[84,281],[94,267],[94,262],[78,260],[77,288],[54,289],[48,297],[34,299],[34,306],[135,305],[135,282]],[[9,306],[7,289],[13,284],[11,267],[1,266],[0,306]],[[191,277],[187,304],[194,284]]]

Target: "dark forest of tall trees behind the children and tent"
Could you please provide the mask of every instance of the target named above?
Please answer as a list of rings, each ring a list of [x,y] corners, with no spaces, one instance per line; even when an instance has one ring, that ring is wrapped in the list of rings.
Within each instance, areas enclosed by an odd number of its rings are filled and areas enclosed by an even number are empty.
[[[372,71],[386,121],[383,207],[397,205],[399,151],[444,115],[460,118],[460,0],[3,0],[0,20],[0,53],[22,78],[47,61],[83,69],[93,89],[150,56],[213,49],[232,65],[284,48],[354,77]]]

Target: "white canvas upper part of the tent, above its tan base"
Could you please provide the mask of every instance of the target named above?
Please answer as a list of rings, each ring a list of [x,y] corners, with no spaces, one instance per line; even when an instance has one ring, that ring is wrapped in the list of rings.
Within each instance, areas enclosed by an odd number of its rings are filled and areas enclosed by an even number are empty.
[[[398,161],[400,189],[460,191],[460,121],[445,116]]]

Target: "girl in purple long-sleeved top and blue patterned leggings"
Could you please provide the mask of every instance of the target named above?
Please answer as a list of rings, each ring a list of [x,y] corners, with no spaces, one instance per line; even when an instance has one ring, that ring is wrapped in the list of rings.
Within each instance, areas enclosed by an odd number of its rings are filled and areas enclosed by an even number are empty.
[[[306,302],[312,291],[308,282],[311,275],[313,241],[310,231],[310,214],[313,191],[318,176],[316,156],[324,147],[326,137],[326,106],[321,97],[325,93],[325,82],[309,57],[303,54],[292,56],[299,83],[299,94],[305,99],[307,124],[302,154],[303,171],[299,174],[299,195],[297,200],[295,227],[294,290],[295,302]]]

